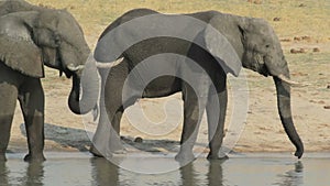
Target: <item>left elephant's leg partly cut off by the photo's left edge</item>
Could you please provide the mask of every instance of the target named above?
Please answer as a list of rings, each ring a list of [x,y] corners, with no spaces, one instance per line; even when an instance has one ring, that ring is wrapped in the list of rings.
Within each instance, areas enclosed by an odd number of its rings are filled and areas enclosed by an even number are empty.
[[[18,99],[15,86],[0,81],[0,161],[6,160],[10,130]]]

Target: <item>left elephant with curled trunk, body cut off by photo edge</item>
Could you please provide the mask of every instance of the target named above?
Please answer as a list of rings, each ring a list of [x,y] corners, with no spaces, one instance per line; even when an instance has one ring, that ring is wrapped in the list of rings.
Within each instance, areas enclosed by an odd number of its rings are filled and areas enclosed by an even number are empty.
[[[6,160],[16,99],[28,132],[24,160],[44,161],[44,65],[73,77],[69,108],[75,113],[87,112],[79,109],[79,85],[90,51],[81,28],[65,10],[6,1],[0,13],[0,161]],[[87,100],[82,96],[81,103],[90,110],[95,106],[87,106]]]

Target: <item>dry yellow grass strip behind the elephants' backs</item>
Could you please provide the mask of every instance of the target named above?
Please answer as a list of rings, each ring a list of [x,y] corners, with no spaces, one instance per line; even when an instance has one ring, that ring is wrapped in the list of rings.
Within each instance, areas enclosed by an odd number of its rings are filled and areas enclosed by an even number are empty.
[[[218,10],[271,22],[280,39],[308,35],[315,42],[330,42],[329,0],[28,0],[67,9],[81,24],[91,46],[102,30],[123,12],[151,8],[161,12],[196,12]],[[279,18],[279,21],[273,21]]]

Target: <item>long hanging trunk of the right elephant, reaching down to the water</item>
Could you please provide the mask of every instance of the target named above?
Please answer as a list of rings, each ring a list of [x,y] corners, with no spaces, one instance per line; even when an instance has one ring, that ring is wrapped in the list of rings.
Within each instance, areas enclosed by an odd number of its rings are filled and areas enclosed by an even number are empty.
[[[288,73],[286,73],[284,76],[289,77]],[[277,76],[274,76],[273,78],[277,91],[277,107],[278,107],[278,114],[280,117],[282,124],[289,140],[296,146],[295,156],[300,158],[304,153],[304,144],[295,129],[294,121],[293,121],[292,108],[290,108],[290,85],[282,80]]]

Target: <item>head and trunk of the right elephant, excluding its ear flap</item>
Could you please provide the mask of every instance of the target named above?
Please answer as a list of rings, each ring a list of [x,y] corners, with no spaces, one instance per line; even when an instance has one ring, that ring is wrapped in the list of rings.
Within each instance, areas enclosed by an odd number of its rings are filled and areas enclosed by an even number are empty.
[[[262,19],[229,14],[215,17],[210,24],[226,35],[241,58],[243,67],[273,77],[279,118],[288,138],[296,146],[295,155],[301,157],[304,145],[294,127],[290,109],[290,85],[297,83],[290,80],[288,64],[273,28]]]

